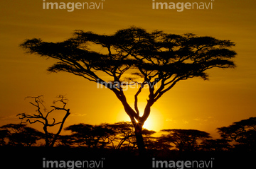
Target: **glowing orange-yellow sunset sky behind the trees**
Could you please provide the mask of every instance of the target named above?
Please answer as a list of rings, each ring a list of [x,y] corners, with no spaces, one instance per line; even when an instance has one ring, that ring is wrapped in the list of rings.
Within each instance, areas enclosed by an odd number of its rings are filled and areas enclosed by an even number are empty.
[[[194,0],[191,2],[213,2],[213,9],[182,12],[153,10],[150,0],[96,2],[103,2],[102,10],[68,12],[43,10],[41,0],[0,1],[0,125],[18,123],[16,114],[33,112],[28,100],[24,100],[28,95],[45,95],[48,106],[56,95],[66,95],[73,114],[65,126],[129,120],[110,90],[97,89],[96,83],[73,74],[48,74],[46,69],[54,63],[52,59],[24,54],[18,45],[33,37],[48,42],[62,41],[79,29],[111,34],[131,25],[149,31],[196,33],[232,40],[236,43],[233,49],[238,52],[236,69],[212,69],[208,71],[210,81],[200,78],[181,81],[163,95],[153,105],[149,122],[145,124],[149,129],[200,129],[215,136],[217,127],[256,116],[256,1]],[[128,99],[132,100],[133,95],[127,91]],[[139,101],[143,105],[146,95]]]

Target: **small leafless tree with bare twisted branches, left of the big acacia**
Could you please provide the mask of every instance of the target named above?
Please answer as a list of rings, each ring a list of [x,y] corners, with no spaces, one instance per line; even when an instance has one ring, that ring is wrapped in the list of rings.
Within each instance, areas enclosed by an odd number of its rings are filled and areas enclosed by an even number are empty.
[[[67,117],[70,115],[70,109],[66,109],[65,105],[68,103],[68,99],[65,98],[63,95],[58,95],[58,100],[53,101],[53,104],[55,103],[61,103],[62,107],[56,107],[55,105],[52,105],[52,110],[48,111],[46,107],[43,105],[43,95],[37,96],[37,97],[27,97],[27,98],[33,98],[34,102],[29,102],[31,105],[35,106],[37,108],[36,112],[37,114],[28,115],[26,113],[18,114],[19,119],[25,120],[21,121],[21,123],[29,122],[30,124],[40,122],[43,124],[43,131],[45,132],[45,140],[46,140],[46,146],[54,146],[56,139],[58,139],[58,136],[63,129],[63,124]],[[43,112],[42,112],[43,107]],[[63,117],[63,120],[61,122],[55,122],[55,118],[53,118],[53,122],[49,122],[48,115],[52,113],[55,110],[64,110],[66,112],[65,116]],[[58,132],[56,134],[50,134],[48,132],[48,127],[53,127],[57,124],[60,124],[60,127],[58,129]],[[53,136],[52,136],[53,135]]]

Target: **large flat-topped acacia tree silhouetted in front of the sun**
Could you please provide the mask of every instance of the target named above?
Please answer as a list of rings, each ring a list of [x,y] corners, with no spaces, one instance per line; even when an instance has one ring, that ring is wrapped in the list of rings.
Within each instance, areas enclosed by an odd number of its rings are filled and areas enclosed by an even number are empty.
[[[114,92],[134,125],[139,151],[143,151],[142,127],[156,100],[178,81],[193,77],[206,80],[208,75],[205,71],[208,69],[235,67],[230,59],[236,52],[229,49],[234,45],[230,40],[214,37],[198,37],[191,33],[174,35],[158,30],[149,33],[142,28],[131,27],[117,30],[114,35],[76,30],[74,37],[63,42],[43,42],[34,38],[25,40],[21,47],[28,53],[57,59],[58,62],[48,68],[50,72],[66,71],[101,83]],[[100,72],[112,78],[112,83],[107,83],[103,79],[105,75],[100,76]],[[136,78],[142,82],[137,82]],[[127,102],[124,86],[118,85],[131,81],[139,86],[133,106]],[[156,83],[159,84],[157,87]],[[138,95],[146,85],[149,86],[146,88],[149,98],[141,115]]]

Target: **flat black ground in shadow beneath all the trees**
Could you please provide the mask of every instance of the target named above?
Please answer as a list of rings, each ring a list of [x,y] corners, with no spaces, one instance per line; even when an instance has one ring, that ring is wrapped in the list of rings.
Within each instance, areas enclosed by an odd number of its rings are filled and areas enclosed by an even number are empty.
[[[103,168],[152,168],[153,158],[155,161],[213,161],[213,168],[255,166],[255,153],[247,151],[146,150],[143,158],[135,152],[98,148],[0,147],[0,151],[4,155],[1,164],[6,168],[43,168],[43,158],[48,161],[103,161]]]

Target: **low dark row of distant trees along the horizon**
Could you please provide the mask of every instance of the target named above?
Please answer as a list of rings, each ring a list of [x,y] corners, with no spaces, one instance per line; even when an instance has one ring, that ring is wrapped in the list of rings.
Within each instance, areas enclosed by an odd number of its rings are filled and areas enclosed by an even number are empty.
[[[73,124],[65,127],[69,135],[48,133],[54,146],[137,149],[134,127],[131,122],[114,124]],[[207,132],[196,129],[163,129],[161,136],[143,129],[147,149],[178,151],[256,151],[256,117],[234,122],[228,127],[218,128],[221,139],[211,139]],[[26,124],[6,124],[0,127],[1,146],[47,146],[43,144],[45,133],[27,127]],[[41,144],[38,144],[41,143]]]

